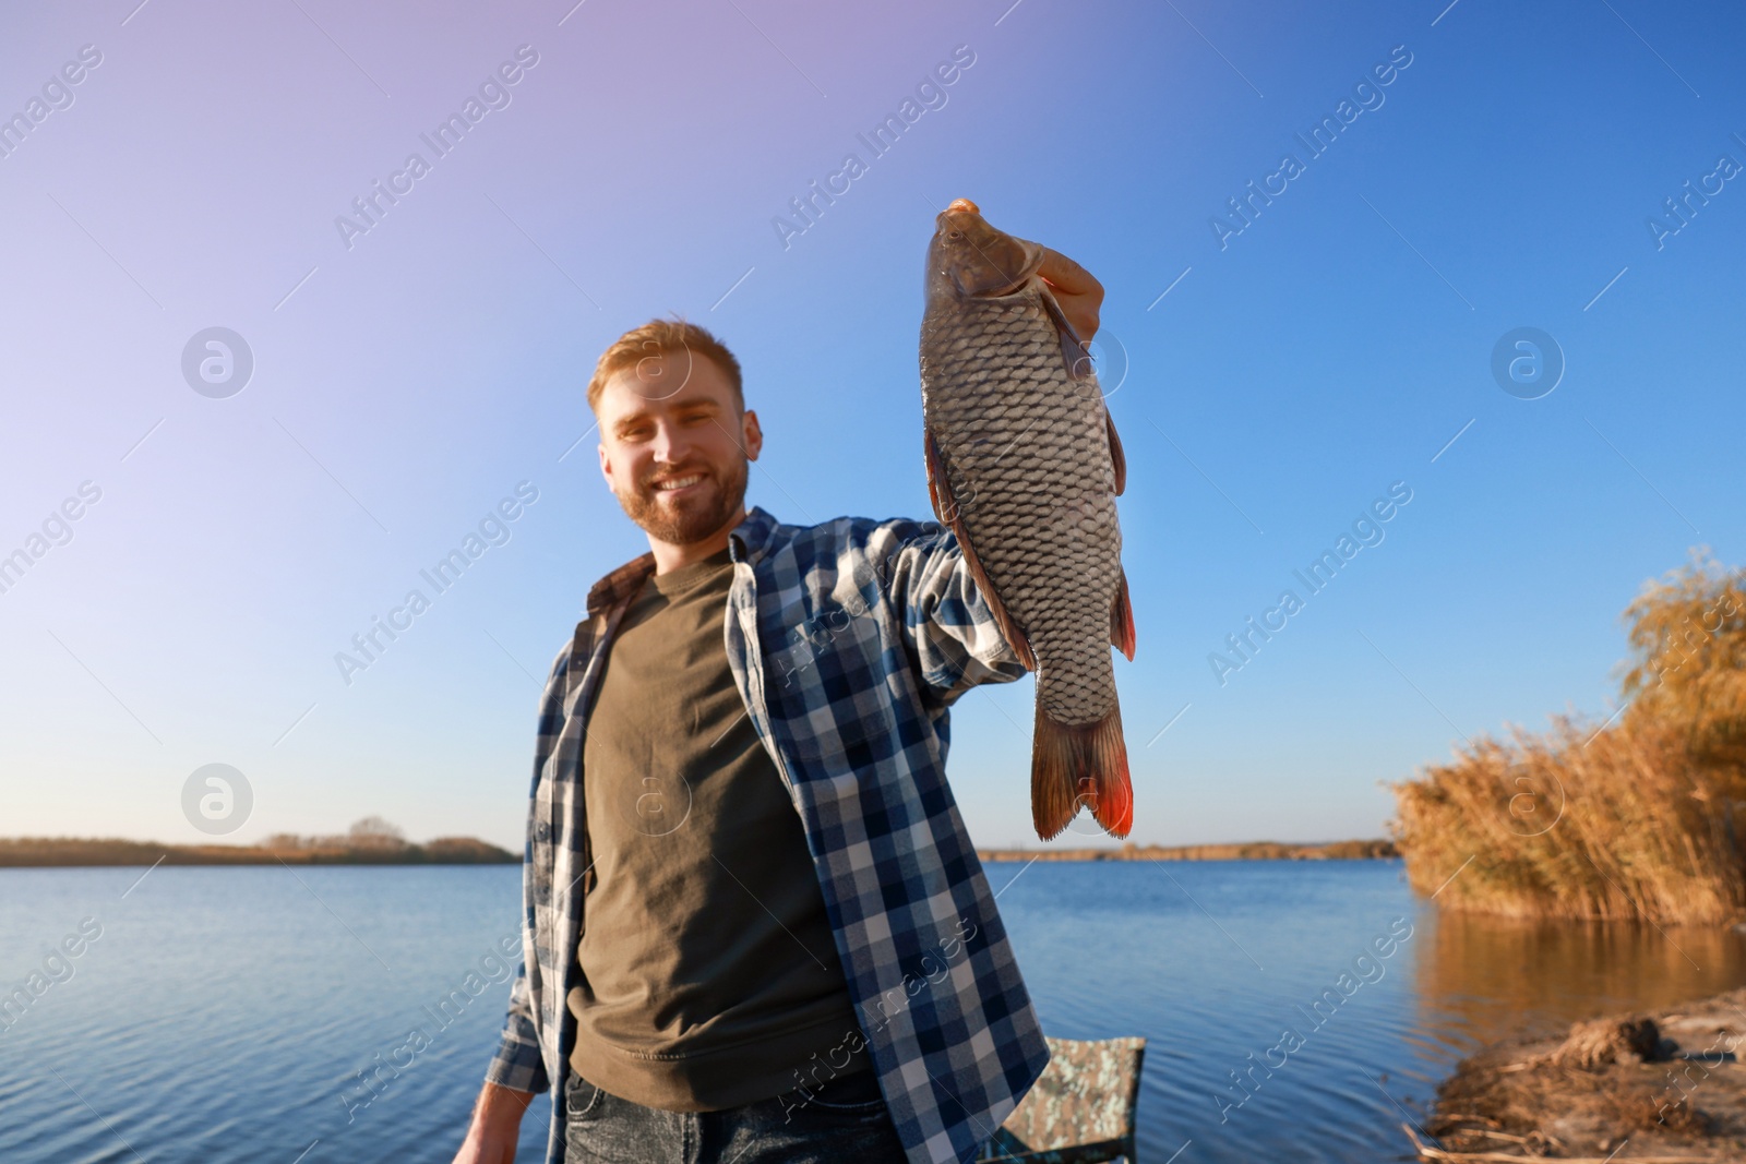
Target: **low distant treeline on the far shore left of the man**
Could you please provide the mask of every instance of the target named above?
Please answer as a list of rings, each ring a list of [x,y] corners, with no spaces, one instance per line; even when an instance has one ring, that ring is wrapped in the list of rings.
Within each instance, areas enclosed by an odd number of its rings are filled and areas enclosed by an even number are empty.
[[[337,836],[278,832],[260,845],[159,845],[72,836],[0,838],[0,869],[51,866],[496,866],[519,853],[471,836],[414,845],[381,817]]]

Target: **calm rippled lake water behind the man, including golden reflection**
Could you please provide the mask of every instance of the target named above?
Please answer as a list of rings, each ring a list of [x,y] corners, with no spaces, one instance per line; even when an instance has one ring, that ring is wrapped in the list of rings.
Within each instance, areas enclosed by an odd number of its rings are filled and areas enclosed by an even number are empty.
[[[491,951],[515,935],[517,869],[161,867],[133,887],[140,873],[0,871],[0,984],[45,963],[65,979],[0,1033],[0,1161],[449,1161],[508,996]],[[1402,1161],[1400,1108],[1418,1115],[1479,1044],[1746,983],[1739,935],[1439,920],[1397,862],[990,880],[1044,1028],[1151,1040],[1147,1164]],[[86,918],[101,937],[49,962]],[[1374,981],[1306,1016],[1392,923],[1413,935],[1360,965]],[[426,1007],[452,991],[468,1002],[438,1028]],[[361,1105],[356,1073],[416,1026],[430,1045]],[[1285,1028],[1283,1066],[1236,1106],[1227,1073]],[[519,1159],[540,1159],[545,1124],[541,1099]]]

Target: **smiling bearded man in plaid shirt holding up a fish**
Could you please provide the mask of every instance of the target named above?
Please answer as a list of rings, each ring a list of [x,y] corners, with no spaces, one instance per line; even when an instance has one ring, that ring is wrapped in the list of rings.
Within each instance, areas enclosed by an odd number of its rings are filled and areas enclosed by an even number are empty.
[[[1070,323],[1103,288],[1048,251]],[[650,553],[540,707],[524,963],[456,1164],[966,1161],[1048,1049],[945,780],[950,705],[1023,665],[932,522],[746,510],[739,361],[651,321],[588,384]]]

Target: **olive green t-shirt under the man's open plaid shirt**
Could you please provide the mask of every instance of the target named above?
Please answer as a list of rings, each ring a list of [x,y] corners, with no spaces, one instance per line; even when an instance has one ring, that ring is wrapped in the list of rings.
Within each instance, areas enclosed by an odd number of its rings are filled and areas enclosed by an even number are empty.
[[[807,834],[723,640],[728,551],[650,578],[583,743],[595,883],[571,1066],[644,1106],[768,1099],[866,1051]]]

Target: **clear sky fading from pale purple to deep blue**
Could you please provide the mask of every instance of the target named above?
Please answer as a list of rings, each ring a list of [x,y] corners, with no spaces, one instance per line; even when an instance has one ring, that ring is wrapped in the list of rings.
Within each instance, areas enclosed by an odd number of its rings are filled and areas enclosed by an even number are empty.
[[[1463,735],[1605,719],[1639,585],[1741,560],[1736,5],[573,2],[0,17],[0,832],[199,841],[222,763],[234,841],[381,813],[519,848],[538,679],[646,548],[587,433],[599,351],[704,323],[763,421],[753,503],[927,517],[953,197],[1109,290],[1135,839],[1378,836]],[[1495,377],[1516,328],[1563,353],[1549,394]],[[1283,628],[1215,668],[1250,616]],[[980,843],[1034,843],[1028,724],[1028,681],[955,712]]]

